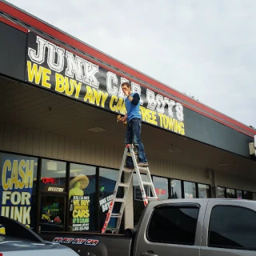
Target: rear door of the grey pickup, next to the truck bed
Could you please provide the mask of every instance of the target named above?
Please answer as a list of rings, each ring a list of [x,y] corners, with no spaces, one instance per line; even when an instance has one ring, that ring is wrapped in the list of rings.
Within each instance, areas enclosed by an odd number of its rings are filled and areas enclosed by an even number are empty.
[[[206,205],[206,201],[202,201]],[[198,203],[170,203],[148,210],[140,226],[136,256],[198,256],[204,208]],[[201,220],[200,222],[198,222]]]

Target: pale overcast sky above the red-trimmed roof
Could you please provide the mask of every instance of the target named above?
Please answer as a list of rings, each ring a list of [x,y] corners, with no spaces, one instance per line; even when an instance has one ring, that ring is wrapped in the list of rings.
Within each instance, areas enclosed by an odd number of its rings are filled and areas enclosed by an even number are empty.
[[[98,50],[256,126],[255,0],[9,0]]]

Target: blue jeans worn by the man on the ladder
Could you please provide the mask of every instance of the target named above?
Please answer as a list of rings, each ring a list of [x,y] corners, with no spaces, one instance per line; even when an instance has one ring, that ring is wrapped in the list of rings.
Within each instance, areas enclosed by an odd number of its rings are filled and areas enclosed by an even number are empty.
[[[137,146],[138,150],[138,162],[147,162],[144,146],[141,140],[141,129],[142,119],[131,119],[127,124],[125,144],[132,144],[134,142],[134,145]],[[134,166],[131,157],[126,158],[126,166]]]

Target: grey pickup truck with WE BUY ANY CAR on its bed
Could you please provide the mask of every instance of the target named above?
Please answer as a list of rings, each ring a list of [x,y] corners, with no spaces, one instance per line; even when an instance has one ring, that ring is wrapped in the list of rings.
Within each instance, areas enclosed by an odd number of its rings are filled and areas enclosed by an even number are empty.
[[[256,202],[168,199],[150,202],[125,234],[43,232],[50,242],[90,256],[256,255]]]

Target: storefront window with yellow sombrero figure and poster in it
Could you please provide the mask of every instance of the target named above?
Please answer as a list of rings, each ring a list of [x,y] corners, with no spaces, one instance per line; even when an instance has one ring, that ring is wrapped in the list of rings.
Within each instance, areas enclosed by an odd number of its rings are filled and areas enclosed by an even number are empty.
[[[96,167],[70,164],[69,230],[97,230]]]

